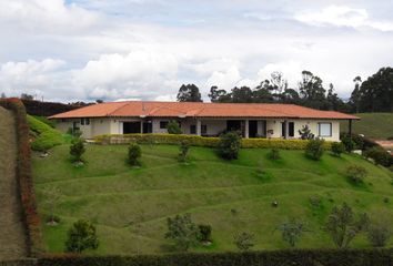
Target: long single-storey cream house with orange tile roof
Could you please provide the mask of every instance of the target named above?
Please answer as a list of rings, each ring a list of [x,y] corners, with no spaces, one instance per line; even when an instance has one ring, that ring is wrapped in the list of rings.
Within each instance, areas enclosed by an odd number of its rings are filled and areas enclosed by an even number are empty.
[[[128,101],[93,104],[51,116],[63,132],[79,129],[91,139],[101,134],[167,133],[178,121],[184,134],[216,136],[223,131],[241,131],[243,137],[299,139],[299,130],[326,141],[340,141],[340,121],[359,117],[278,103],[203,103]],[[350,126],[351,127],[351,126]]]

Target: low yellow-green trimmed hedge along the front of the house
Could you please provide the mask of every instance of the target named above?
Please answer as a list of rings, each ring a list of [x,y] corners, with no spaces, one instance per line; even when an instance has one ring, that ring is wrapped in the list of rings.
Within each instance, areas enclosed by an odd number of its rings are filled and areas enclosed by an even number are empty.
[[[216,147],[220,137],[205,137],[198,135],[175,135],[175,134],[112,134],[99,135],[95,142],[101,144],[128,144],[137,142],[140,144],[175,144],[187,142],[191,146]],[[282,150],[304,150],[309,141],[305,140],[282,140],[282,139],[242,139],[242,147],[282,149]],[[330,150],[332,142],[325,142],[324,149]]]

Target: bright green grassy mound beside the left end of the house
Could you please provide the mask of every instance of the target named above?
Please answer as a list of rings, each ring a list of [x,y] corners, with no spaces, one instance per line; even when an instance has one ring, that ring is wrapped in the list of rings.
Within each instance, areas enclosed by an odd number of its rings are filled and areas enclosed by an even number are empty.
[[[28,123],[30,126],[30,135],[33,141],[31,142],[31,149],[34,151],[48,151],[56,145],[69,143],[70,135],[62,134],[54,130],[43,117],[36,117],[28,115]]]

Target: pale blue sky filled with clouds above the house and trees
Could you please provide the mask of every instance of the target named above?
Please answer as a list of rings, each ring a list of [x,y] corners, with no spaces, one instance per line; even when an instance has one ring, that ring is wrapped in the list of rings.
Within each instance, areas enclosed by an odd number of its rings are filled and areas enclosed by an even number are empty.
[[[346,99],[393,62],[391,0],[0,0],[0,93],[174,101],[183,83],[319,75]]]

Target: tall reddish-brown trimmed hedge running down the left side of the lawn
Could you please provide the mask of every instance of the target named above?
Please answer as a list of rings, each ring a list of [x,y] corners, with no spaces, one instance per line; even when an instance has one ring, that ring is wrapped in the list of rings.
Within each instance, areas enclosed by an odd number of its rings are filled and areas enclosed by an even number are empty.
[[[36,195],[31,175],[31,155],[29,144],[29,125],[23,103],[19,99],[0,100],[0,105],[14,113],[17,126],[18,162],[17,178],[21,198],[23,224],[28,253],[37,256],[42,250],[42,238],[40,232],[40,218],[37,213]]]

